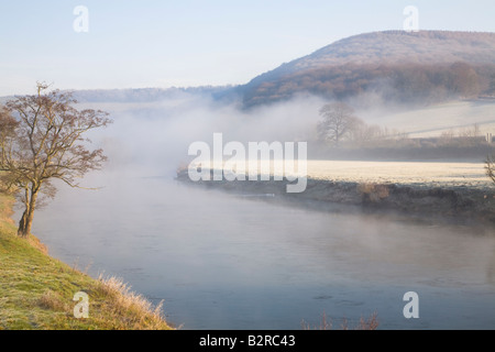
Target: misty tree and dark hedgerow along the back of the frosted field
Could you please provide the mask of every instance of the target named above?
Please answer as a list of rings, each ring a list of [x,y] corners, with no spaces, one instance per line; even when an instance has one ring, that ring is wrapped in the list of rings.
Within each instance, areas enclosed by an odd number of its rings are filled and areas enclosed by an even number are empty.
[[[480,127],[447,130],[439,136],[410,138],[408,133],[367,124],[344,102],[331,102],[320,109],[312,150],[323,158],[485,158],[495,152],[491,135]]]

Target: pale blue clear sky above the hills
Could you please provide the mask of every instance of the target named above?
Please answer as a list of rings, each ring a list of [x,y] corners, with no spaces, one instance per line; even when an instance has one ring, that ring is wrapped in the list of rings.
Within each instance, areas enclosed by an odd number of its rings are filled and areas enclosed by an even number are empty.
[[[36,81],[245,84],[338,40],[403,30],[408,6],[419,30],[495,32],[493,0],[0,0],[0,96],[32,94]]]

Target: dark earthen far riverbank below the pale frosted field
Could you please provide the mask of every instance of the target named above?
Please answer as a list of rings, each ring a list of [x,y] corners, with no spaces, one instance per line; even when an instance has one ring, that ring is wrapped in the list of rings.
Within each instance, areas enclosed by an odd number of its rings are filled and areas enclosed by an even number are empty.
[[[238,195],[271,196],[296,205],[324,209],[332,205],[356,207],[365,211],[398,212],[437,217],[464,222],[495,224],[495,187],[466,184],[415,184],[392,182],[353,182],[311,178],[304,193],[286,193],[287,180],[197,182],[187,170],[177,180]]]

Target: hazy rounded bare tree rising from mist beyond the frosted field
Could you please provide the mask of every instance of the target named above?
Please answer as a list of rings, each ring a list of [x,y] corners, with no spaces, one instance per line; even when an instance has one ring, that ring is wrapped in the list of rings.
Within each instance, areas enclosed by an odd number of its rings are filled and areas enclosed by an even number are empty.
[[[363,124],[361,119],[354,116],[354,110],[343,102],[333,102],[323,106],[320,109],[320,116],[322,121],[317,127],[318,136],[337,147],[360,124]]]

